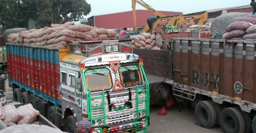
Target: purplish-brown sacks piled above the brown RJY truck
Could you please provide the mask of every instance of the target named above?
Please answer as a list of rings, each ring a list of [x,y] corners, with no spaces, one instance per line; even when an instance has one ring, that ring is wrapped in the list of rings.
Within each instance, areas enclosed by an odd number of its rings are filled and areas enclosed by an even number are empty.
[[[253,26],[255,24],[256,17],[253,17],[253,15],[252,17],[247,16],[234,19],[226,28],[227,33],[223,35],[223,38],[231,40],[256,39],[255,26]]]

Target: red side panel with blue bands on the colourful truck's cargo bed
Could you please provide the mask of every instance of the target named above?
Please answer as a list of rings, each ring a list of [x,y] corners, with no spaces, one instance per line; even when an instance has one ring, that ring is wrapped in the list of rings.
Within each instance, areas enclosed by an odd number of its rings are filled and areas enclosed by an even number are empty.
[[[60,57],[68,49],[6,44],[9,84],[17,84],[61,107]]]

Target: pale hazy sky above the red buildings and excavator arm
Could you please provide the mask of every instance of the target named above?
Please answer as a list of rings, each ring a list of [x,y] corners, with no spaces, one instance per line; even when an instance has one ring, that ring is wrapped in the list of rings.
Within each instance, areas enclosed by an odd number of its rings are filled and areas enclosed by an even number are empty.
[[[132,11],[131,0],[86,0],[91,4],[91,12],[84,16],[111,14]],[[176,11],[183,14],[201,12],[205,10],[228,8],[232,6],[250,5],[251,0],[143,0],[157,11]],[[136,10],[146,10],[136,4]]]

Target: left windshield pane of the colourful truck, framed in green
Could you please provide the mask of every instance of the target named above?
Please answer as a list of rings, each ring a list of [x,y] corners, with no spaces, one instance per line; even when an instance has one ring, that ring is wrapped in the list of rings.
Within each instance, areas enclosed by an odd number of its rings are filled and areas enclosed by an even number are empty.
[[[107,68],[87,69],[84,73],[89,91],[107,90],[113,86],[110,71]]]

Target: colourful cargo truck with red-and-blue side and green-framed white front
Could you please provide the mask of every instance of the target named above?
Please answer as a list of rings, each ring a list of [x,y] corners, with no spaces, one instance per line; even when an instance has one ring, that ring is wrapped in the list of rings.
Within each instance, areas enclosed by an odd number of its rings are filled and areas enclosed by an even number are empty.
[[[66,132],[147,132],[149,84],[131,40],[71,42],[66,49],[6,44],[14,101],[32,103]]]

